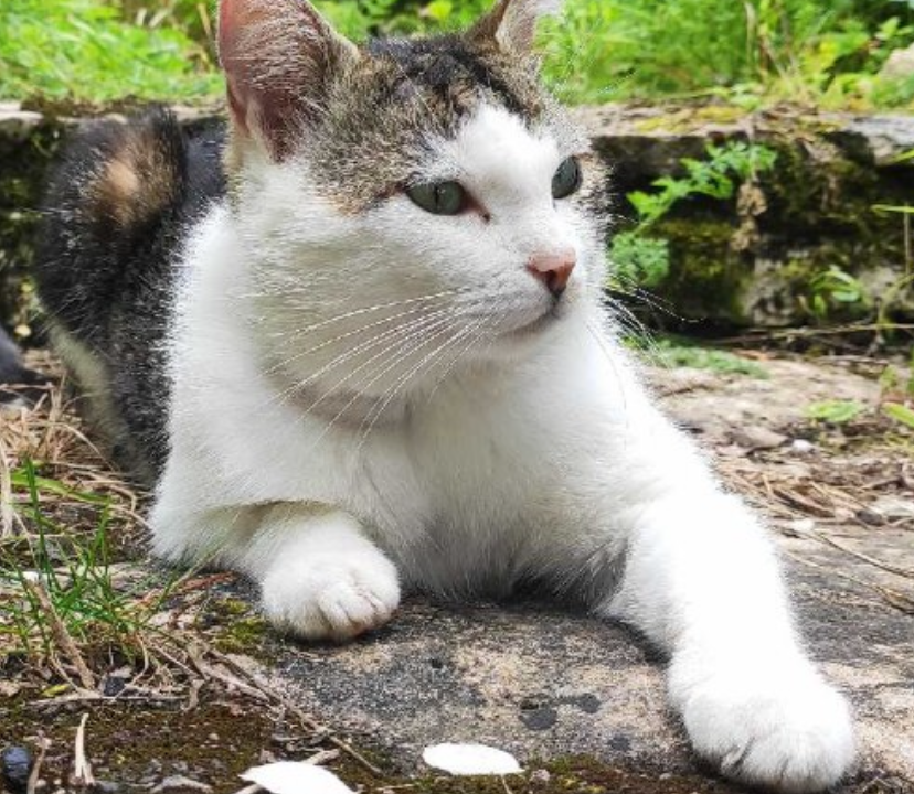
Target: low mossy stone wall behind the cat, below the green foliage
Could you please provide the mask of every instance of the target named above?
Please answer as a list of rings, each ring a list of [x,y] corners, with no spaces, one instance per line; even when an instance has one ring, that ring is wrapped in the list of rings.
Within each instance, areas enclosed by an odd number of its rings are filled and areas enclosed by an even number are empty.
[[[689,198],[652,234],[670,240],[671,268],[655,291],[688,321],[719,326],[794,325],[810,320],[810,281],[830,267],[855,278],[867,301],[835,304],[827,321],[873,311],[910,264],[900,215],[875,204],[914,204],[914,117],[743,114],[729,107],[604,106],[575,111],[610,165],[617,228],[625,195],[703,159],[709,142],[756,141],[777,151],[762,174],[754,211],[735,198]],[[199,112],[184,112],[188,122]],[[25,330],[35,307],[28,281],[41,183],[64,131],[77,124],[0,105],[0,320]],[[738,233],[738,234],[737,234]],[[896,315],[914,318],[914,292]]]

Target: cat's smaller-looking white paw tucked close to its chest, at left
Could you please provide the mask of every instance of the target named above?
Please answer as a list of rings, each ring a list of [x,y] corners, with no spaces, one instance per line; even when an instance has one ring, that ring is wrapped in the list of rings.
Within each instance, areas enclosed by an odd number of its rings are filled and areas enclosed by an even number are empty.
[[[351,640],[384,625],[400,604],[393,564],[376,549],[315,555],[272,569],[263,604],[278,627],[307,640]]]

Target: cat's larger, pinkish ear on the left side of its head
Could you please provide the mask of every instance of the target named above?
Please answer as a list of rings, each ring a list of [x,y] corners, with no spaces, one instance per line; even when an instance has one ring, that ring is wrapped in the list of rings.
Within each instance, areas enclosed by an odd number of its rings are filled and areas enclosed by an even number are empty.
[[[236,135],[279,161],[359,50],[306,0],[221,0],[219,57]]]

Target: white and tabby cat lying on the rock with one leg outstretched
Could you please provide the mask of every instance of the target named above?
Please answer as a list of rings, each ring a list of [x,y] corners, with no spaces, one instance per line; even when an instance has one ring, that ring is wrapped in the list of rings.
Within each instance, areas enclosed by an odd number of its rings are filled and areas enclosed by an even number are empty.
[[[666,652],[725,775],[827,787],[851,716],[773,543],[603,315],[606,174],[541,85],[545,10],[357,46],[305,0],[222,0],[227,140],[156,110],[53,181],[57,348],[155,483],[153,551],[244,572],[283,631],[523,583]]]

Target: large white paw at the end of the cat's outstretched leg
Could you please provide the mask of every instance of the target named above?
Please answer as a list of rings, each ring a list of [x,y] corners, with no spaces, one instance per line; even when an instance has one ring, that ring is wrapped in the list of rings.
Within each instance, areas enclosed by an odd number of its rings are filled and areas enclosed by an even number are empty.
[[[778,675],[753,665],[701,678],[673,664],[670,694],[695,751],[729,777],[817,792],[853,763],[848,705],[808,664]]]

